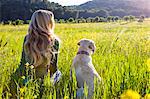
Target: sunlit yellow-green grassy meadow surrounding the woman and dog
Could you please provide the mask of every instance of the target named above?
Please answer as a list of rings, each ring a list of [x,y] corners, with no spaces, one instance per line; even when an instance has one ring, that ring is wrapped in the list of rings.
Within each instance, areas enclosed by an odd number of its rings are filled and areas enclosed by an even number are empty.
[[[0,25],[0,96],[19,66],[27,29],[28,25]],[[77,42],[82,38],[95,41],[93,64],[104,81],[102,86],[95,79],[94,99],[119,99],[126,90],[133,90],[141,97],[150,94],[150,21],[56,24],[55,33],[61,40],[58,68],[62,78],[57,86],[51,85],[49,77],[45,78],[43,99],[56,99],[58,92],[59,99],[75,99],[75,75],[73,82],[70,81],[69,69],[78,50]],[[29,81],[18,88],[18,98],[37,98],[38,87],[36,81]],[[9,97],[7,93],[6,99]]]

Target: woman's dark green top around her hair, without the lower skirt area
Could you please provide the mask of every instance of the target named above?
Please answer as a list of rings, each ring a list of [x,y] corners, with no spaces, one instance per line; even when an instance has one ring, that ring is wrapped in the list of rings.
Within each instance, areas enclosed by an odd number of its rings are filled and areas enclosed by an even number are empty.
[[[26,37],[24,39],[24,42],[25,41],[26,41]],[[23,45],[24,45],[24,43],[23,43]],[[57,71],[58,50],[59,50],[59,41],[57,39],[55,39],[54,46],[52,47],[52,51],[55,53],[52,54],[50,66],[49,67],[46,67],[46,66],[36,67],[35,68],[36,77],[43,78],[46,74],[48,74],[48,70],[50,71],[50,76],[52,76]],[[20,62],[20,66],[18,68],[19,72],[22,76],[26,74],[25,64],[26,63],[30,64],[30,59],[26,59],[26,58],[27,57],[26,57],[26,54],[24,52],[24,47],[23,47],[21,62]]]

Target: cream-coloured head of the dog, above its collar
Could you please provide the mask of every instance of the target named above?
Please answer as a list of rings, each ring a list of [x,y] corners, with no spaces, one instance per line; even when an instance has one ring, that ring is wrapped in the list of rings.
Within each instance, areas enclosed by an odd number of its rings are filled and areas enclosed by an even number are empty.
[[[78,42],[78,45],[84,50],[92,51],[92,53],[94,53],[96,49],[94,41],[90,39],[82,39]]]

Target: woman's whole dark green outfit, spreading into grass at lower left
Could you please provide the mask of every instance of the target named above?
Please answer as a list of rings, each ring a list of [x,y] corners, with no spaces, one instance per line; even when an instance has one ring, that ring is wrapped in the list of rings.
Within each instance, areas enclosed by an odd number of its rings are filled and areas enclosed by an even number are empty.
[[[26,41],[26,37],[24,39],[24,42]],[[23,43],[24,45],[24,43]],[[58,59],[58,50],[59,50],[59,41],[57,39],[55,39],[54,41],[54,46],[52,48],[52,51],[56,52],[52,55],[51,58],[51,63],[50,63],[50,67],[47,68],[46,66],[41,66],[41,67],[36,67],[35,69],[35,73],[36,73],[36,78],[42,78],[48,74],[48,70],[50,70],[50,76],[52,76],[56,71],[57,71],[57,59]],[[29,71],[27,72],[27,66],[25,65],[27,62],[29,63],[29,61],[27,61],[28,59],[26,59],[26,54],[24,52],[24,48],[22,51],[22,57],[21,57],[21,62],[19,67],[16,69],[16,71],[11,75],[11,79],[10,79],[10,83],[9,83],[9,88],[10,88],[10,92],[13,94],[13,96],[16,95],[17,93],[17,86],[16,86],[16,82],[18,83],[18,85],[24,86],[25,84],[27,84],[27,82],[29,81],[30,77],[32,76],[31,74],[31,70],[32,69],[28,69]],[[30,63],[29,63],[30,64]],[[29,65],[30,66],[30,65]]]

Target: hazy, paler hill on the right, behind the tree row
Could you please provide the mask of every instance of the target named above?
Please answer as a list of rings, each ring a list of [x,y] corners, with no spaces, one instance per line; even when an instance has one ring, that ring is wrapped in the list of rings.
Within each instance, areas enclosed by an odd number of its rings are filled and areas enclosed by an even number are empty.
[[[106,10],[113,16],[150,16],[150,0],[93,0],[77,6],[78,10]]]

